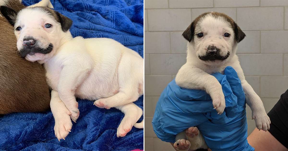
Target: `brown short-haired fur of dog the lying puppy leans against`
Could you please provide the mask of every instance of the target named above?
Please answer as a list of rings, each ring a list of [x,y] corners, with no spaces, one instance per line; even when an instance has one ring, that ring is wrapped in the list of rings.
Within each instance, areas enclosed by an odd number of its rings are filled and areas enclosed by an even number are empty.
[[[18,0],[10,0],[7,6],[24,8]],[[19,57],[13,27],[0,17],[0,114],[42,112],[49,107],[44,68]]]

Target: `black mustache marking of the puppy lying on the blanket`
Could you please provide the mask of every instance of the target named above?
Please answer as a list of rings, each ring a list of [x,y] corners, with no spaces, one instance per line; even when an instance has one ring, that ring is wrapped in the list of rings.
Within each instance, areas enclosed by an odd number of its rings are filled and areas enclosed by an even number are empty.
[[[19,51],[19,55],[21,58],[25,58],[27,54],[31,53],[32,55],[35,53],[42,53],[42,54],[47,54],[50,53],[53,50],[53,44],[50,43],[47,48],[40,48],[38,46],[33,47],[32,49],[28,48],[23,48]]]

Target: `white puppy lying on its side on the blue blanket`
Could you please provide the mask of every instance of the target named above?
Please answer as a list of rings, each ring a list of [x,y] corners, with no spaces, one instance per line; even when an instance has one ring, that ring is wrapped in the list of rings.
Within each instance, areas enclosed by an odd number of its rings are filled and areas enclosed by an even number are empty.
[[[48,7],[19,12],[1,7],[1,12],[14,26],[20,56],[44,64],[59,140],[71,130],[70,117],[74,122],[79,117],[75,96],[121,110],[125,116],[118,137],[133,125],[143,128],[143,121],[136,123],[143,111],[132,103],[143,94],[143,58],[138,53],[108,38],[73,38],[72,21]]]

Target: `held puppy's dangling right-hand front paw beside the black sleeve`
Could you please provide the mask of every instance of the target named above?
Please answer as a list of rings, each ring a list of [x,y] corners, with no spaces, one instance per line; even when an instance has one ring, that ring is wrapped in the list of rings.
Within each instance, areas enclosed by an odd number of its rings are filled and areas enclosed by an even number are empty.
[[[259,131],[261,129],[263,131],[267,131],[270,129],[271,121],[265,110],[262,112],[253,112],[252,119],[255,119],[256,127],[257,129],[259,129]]]

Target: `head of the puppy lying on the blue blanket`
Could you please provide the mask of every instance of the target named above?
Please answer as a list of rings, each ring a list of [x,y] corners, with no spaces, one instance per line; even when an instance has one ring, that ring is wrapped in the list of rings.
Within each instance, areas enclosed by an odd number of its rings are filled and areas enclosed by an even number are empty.
[[[72,25],[72,20],[48,7],[26,7],[16,12],[1,6],[0,10],[14,26],[20,56],[32,62],[51,57]]]

